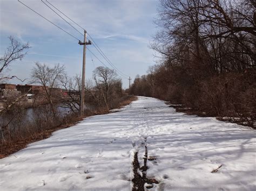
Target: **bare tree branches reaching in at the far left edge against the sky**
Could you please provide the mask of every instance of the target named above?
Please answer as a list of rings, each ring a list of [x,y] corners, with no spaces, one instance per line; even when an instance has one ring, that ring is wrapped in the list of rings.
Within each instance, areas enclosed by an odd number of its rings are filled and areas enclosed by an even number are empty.
[[[4,76],[6,69],[15,60],[22,60],[26,50],[30,48],[29,43],[21,44],[14,37],[10,36],[10,46],[6,48],[4,55],[0,58],[0,80],[13,79],[16,76]]]

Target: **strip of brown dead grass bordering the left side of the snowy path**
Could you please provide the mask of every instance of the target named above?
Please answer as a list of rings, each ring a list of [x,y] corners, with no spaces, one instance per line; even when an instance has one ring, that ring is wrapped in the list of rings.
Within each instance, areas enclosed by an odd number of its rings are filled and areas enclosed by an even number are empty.
[[[125,105],[129,105],[132,101],[137,100],[136,96],[125,96],[123,101],[121,101],[117,107],[122,108]],[[46,138],[49,138],[53,132],[60,130],[60,129],[65,129],[69,128],[70,126],[75,125],[79,121],[82,121],[83,118],[90,117],[90,116],[95,116],[95,115],[103,115],[107,114],[111,111],[107,111],[104,109],[98,109],[97,112],[90,112],[87,111],[85,112],[85,115],[83,117],[76,116],[74,114],[70,114],[69,116],[65,117],[65,120],[62,121],[62,124],[57,125],[57,126],[50,126],[48,129],[44,129],[40,132],[31,132],[29,135],[27,135],[25,138],[21,139],[16,139],[15,141],[12,140],[12,142],[4,142],[2,140],[1,148],[0,148],[0,159],[7,157],[8,155],[15,153],[23,148],[26,147],[26,145],[37,142],[39,140],[43,140]],[[116,111],[114,111],[116,112]]]

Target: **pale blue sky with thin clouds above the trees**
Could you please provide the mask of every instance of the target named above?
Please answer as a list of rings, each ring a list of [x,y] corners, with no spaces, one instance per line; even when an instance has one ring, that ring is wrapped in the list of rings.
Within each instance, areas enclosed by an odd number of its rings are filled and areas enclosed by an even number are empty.
[[[81,34],[40,0],[21,1],[83,40]],[[157,30],[153,20],[157,17],[158,0],[48,1],[83,26],[110,61],[124,74],[131,76],[132,80],[137,74],[145,74],[147,68],[154,65],[156,58],[149,44]],[[24,43],[29,41],[31,45],[28,55],[11,65],[9,75],[28,78],[37,61],[49,65],[60,63],[70,76],[81,73],[83,47],[78,45],[76,39],[37,16],[17,0],[0,0],[0,12],[0,54],[8,46],[10,35]],[[78,30],[83,33],[82,29]],[[108,65],[92,45],[89,48]],[[92,71],[97,66],[102,66],[102,63],[87,51],[86,79],[92,77]],[[129,81],[122,81],[127,88]],[[12,80],[10,83],[21,82]]]

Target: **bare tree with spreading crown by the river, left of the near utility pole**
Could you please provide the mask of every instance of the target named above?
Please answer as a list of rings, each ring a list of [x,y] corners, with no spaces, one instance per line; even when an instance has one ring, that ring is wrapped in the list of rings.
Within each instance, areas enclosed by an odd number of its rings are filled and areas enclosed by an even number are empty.
[[[63,65],[55,65],[54,67],[50,67],[39,62],[36,62],[36,66],[33,67],[31,72],[31,78],[33,82],[41,84],[44,88],[44,96],[46,100],[48,100],[53,116],[56,117],[56,107],[53,104],[53,100],[55,98],[56,89],[59,85],[60,79],[64,74],[64,66]]]

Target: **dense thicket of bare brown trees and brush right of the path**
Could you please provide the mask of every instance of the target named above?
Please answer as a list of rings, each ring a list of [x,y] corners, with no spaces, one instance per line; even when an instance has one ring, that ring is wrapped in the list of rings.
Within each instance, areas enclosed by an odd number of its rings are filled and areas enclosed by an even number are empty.
[[[161,0],[151,47],[162,60],[132,93],[255,125],[255,8],[254,0]]]

